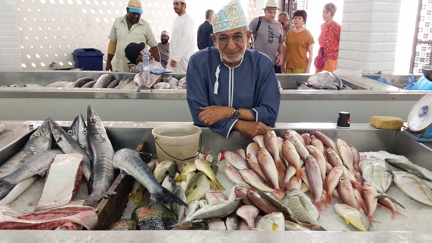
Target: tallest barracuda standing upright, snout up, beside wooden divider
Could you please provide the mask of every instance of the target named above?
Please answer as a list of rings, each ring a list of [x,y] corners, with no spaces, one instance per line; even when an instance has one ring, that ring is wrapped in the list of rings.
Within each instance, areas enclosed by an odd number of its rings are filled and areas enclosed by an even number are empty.
[[[114,149],[101,118],[91,106],[87,107],[87,129],[93,159],[89,183],[89,192],[91,193],[84,201],[84,205],[89,205],[116,193],[109,191],[112,182],[114,182],[114,166],[112,165]]]

